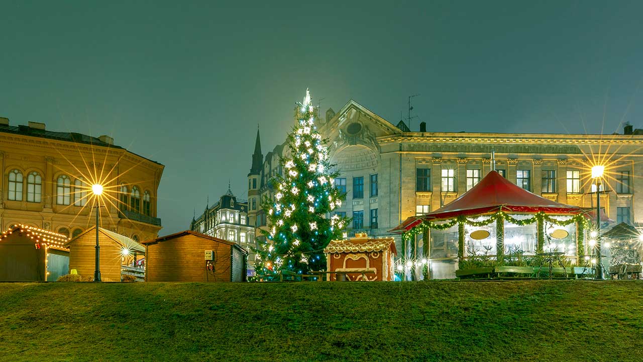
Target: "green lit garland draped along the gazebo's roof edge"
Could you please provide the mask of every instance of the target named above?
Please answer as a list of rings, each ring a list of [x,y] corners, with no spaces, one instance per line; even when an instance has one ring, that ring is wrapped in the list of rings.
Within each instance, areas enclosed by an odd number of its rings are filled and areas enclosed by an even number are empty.
[[[502,222],[506,221],[506,222],[509,222],[510,224],[519,225],[519,226],[537,223],[539,247],[541,247],[545,243],[545,233],[542,230],[544,222],[548,222],[550,224],[557,225],[557,226],[566,226],[572,223],[576,223],[578,228],[578,232],[576,233],[576,235],[577,235],[577,242],[578,242],[577,251],[578,251],[579,260],[584,256],[584,250],[585,250],[584,249],[584,230],[589,229],[591,226],[590,222],[587,220],[584,214],[576,214],[567,220],[558,220],[556,218],[552,218],[551,216],[545,214],[543,211],[538,211],[538,213],[535,213],[534,216],[520,220],[520,219],[514,218],[513,216],[501,210],[494,214],[490,214],[489,218],[481,221],[475,221],[471,218],[467,218],[464,215],[457,216],[457,218],[453,218],[448,222],[444,222],[442,224],[439,224],[437,222],[432,222],[430,220],[424,220],[421,224],[406,231],[406,233],[402,235],[402,238],[403,240],[412,240],[416,234],[424,233],[424,231],[427,231],[429,229],[446,230],[451,227],[454,227],[455,225],[458,225],[458,249],[460,249],[458,252],[460,253],[460,257],[462,257],[462,252],[464,252],[462,250],[462,248],[464,248],[464,225],[469,225],[473,227],[482,227],[482,226],[489,225],[493,222],[501,222],[501,221]]]

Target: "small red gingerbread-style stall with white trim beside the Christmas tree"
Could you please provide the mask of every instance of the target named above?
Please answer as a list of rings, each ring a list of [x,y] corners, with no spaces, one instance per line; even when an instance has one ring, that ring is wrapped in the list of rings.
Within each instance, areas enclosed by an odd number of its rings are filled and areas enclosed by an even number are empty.
[[[332,240],[324,249],[329,280],[345,275],[347,280],[364,278],[368,281],[394,280],[395,240],[393,238],[368,238],[366,233],[357,233],[354,238]],[[368,271],[368,274],[363,274]],[[343,274],[347,272],[347,274]],[[341,277],[340,277],[341,278]]]

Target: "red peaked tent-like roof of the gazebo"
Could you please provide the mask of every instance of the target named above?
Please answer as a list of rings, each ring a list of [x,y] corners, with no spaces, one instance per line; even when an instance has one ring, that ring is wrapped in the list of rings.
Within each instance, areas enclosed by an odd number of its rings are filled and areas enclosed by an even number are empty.
[[[472,216],[496,211],[507,213],[577,214],[584,209],[565,205],[530,193],[512,184],[496,171],[487,173],[476,186],[457,199],[428,214],[411,216],[392,232],[404,232],[422,223],[422,220],[444,220],[460,215]]]

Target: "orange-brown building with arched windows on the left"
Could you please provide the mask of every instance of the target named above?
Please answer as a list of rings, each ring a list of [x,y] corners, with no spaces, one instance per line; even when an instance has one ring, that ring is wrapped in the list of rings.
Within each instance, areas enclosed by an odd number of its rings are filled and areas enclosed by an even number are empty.
[[[134,240],[158,236],[163,165],[98,138],[0,118],[0,225],[24,224],[73,238],[95,225],[91,184],[104,183],[101,227]],[[107,211],[107,212],[105,212]]]

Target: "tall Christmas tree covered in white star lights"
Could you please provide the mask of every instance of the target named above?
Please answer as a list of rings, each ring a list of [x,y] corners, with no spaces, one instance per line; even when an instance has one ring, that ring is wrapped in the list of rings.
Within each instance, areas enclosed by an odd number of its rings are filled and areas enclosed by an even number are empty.
[[[334,187],[339,172],[330,163],[327,140],[315,127],[308,90],[303,103],[297,103],[295,119],[287,141],[290,152],[284,152],[289,156],[280,160],[284,175],[271,180],[274,199],[262,200],[268,231],[263,231],[266,242],[259,242],[255,270],[264,280],[282,270],[298,274],[325,270],[324,247],[341,238],[350,221],[332,214],[344,195]]]

